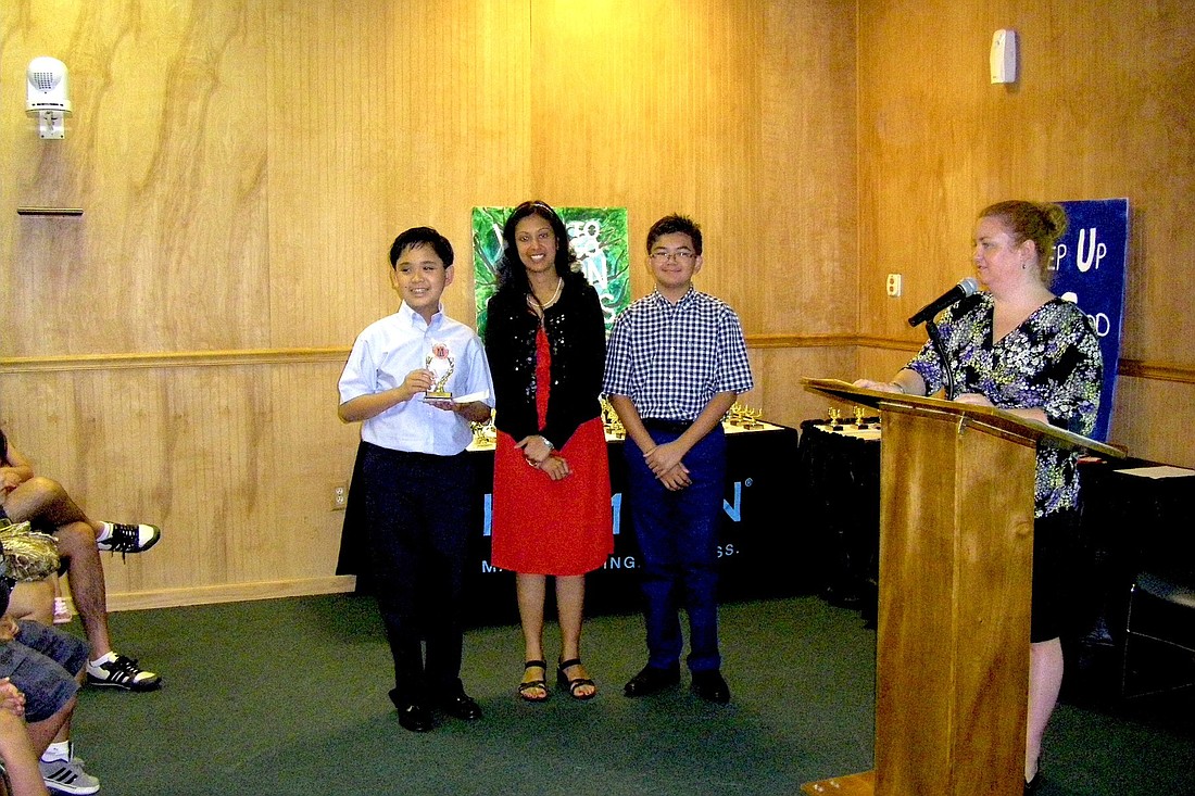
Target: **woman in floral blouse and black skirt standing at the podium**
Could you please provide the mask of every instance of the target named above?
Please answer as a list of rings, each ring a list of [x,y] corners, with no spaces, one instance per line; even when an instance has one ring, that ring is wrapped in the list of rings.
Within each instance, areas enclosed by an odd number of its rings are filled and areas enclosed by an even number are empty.
[[[1058,204],[1005,201],[975,224],[973,259],[982,290],[946,307],[920,353],[891,381],[871,390],[995,406],[1090,435],[1099,409],[1103,360],[1086,314],[1050,292],[1054,244],[1066,232]],[[1079,453],[1037,446],[1034,488],[1032,616],[1025,792],[1037,789],[1041,740],[1062,685],[1061,632],[1068,619],[1064,580],[1078,527]]]

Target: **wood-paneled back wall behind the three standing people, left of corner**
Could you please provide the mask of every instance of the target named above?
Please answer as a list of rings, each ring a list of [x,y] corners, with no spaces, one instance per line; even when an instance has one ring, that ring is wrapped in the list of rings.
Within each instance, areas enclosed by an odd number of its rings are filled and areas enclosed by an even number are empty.
[[[666,213],[755,341],[766,415],[821,402],[856,325],[854,4],[182,0],[0,7],[0,424],[94,516],[163,526],[109,559],[114,608],[343,589],[356,333],[386,253],[470,210],[621,206],[633,293]],[[25,66],[71,69],[67,139]],[[18,207],[79,207],[74,218]],[[827,290],[828,284],[839,289]],[[764,286],[768,289],[762,289]]]

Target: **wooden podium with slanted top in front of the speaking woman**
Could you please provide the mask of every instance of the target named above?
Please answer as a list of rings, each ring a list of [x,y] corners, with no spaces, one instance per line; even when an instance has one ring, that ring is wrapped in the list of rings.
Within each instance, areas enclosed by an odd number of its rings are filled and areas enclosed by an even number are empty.
[[[802,381],[883,428],[875,771],[802,791],[1021,796],[1036,445],[1123,454],[999,409]]]

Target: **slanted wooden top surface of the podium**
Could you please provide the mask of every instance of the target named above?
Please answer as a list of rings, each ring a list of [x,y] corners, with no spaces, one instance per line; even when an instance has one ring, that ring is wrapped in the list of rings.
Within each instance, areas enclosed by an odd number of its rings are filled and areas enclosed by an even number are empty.
[[[1035,442],[1048,437],[1064,446],[1091,451],[1092,453],[1099,453],[1114,459],[1122,459],[1124,457],[1123,451],[1098,440],[1067,431],[1049,423],[1031,421],[994,406],[976,406],[975,404],[962,404],[956,400],[944,400],[942,398],[926,398],[923,396],[870,390],[839,379],[803,378],[801,384],[805,390],[811,392],[836,398],[838,400],[871,406],[881,411],[925,411],[951,415],[978,425],[991,427],[995,430],[1015,434]]]

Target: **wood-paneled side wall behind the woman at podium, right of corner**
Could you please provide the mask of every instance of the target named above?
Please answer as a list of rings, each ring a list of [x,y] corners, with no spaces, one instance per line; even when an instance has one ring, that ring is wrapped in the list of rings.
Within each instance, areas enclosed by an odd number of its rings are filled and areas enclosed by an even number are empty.
[[[1021,74],[992,85],[992,33]],[[1160,2],[859,2],[860,371],[924,341],[905,318],[960,276],[1003,198],[1127,197],[1130,241],[1111,440],[1195,466],[1195,14]],[[889,273],[905,294],[884,294]],[[884,345],[903,341],[899,355]],[[872,368],[882,368],[878,372]]]

